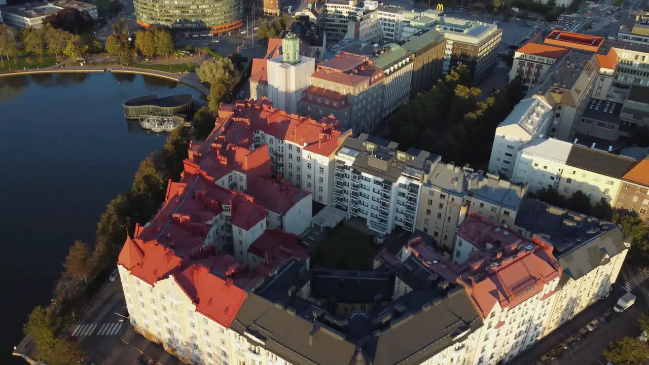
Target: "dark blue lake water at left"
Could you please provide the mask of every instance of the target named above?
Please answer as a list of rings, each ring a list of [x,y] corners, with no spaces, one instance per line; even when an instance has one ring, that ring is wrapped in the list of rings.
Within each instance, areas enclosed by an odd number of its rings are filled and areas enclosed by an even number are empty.
[[[106,204],[129,189],[165,134],[141,129],[122,103],[199,92],[166,79],[106,73],[0,77],[0,364],[36,305],[48,305],[69,246],[91,244]]]

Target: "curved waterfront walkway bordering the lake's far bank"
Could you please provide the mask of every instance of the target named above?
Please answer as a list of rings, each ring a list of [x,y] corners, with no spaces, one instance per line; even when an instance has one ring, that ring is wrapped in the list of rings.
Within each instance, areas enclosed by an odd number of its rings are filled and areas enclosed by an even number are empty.
[[[138,73],[140,75],[148,75],[154,77],[162,77],[177,82],[182,82],[191,88],[198,90],[203,95],[208,95],[210,90],[201,84],[198,75],[195,72],[182,72],[182,73],[169,73],[158,71],[154,69],[143,68],[129,68],[121,66],[79,66],[73,64],[66,64],[64,68],[60,66],[52,66],[49,68],[41,69],[20,69],[17,71],[8,71],[0,73],[0,77],[15,76],[15,75],[34,75],[38,73],[73,73],[73,72],[114,72],[114,73]]]

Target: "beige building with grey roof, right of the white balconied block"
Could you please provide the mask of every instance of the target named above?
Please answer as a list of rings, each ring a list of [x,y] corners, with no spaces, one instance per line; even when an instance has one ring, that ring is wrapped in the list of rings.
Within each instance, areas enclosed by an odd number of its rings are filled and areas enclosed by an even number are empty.
[[[430,234],[437,247],[450,251],[459,225],[469,214],[511,225],[525,194],[527,186],[468,166],[436,162],[424,178],[415,228]]]

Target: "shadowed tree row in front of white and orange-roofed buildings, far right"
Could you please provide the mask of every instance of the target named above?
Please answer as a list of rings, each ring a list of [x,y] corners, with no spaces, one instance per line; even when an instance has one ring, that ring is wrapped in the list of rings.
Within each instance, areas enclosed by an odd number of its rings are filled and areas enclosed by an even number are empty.
[[[641,266],[649,265],[649,225],[636,212],[626,209],[613,209],[601,201],[591,203],[588,195],[581,191],[572,193],[570,198],[561,196],[554,188],[543,188],[533,194],[537,199],[550,205],[574,210],[575,212],[594,216],[600,220],[611,221],[622,227],[625,236],[631,238],[631,249],[627,262]]]

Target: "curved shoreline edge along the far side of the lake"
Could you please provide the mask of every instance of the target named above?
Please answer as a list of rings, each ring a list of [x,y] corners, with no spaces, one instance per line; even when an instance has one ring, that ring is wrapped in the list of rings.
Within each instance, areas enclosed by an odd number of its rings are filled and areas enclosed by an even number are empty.
[[[39,75],[43,73],[101,73],[101,72],[106,72],[110,71],[111,73],[134,73],[136,75],[145,75],[145,76],[153,76],[153,77],[160,77],[162,79],[167,79],[171,81],[176,81],[180,82],[182,84],[186,84],[187,86],[190,86],[190,88],[193,88],[200,92],[202,95],[208,95],[210,94],[210,90],[206,88],[201,82],[199,81],[194,81],[189,79],[188,73],[168,73],[164,71],[156,71],[152,69],[143,69],[143,68],[113,68],[113,67],[119,67],[119,66],[88,66],[87,68],[82,68],[80,66],[77,66],[76,68],[53,68],[53,69],[25,69],[25,70],[18,70],[18,71],[9,71],[9,72],[4,72],[0,73],[0,77],[9,77],[9,76],[21,76],[21,75]]]

